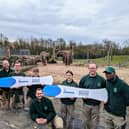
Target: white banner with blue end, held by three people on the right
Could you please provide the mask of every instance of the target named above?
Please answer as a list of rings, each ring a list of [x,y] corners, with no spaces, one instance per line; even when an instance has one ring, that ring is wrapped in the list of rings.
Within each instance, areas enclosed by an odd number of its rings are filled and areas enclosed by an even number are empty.
[[[105,88],[102,89],[83,89],[63,85],[45,86],[43,92],[46,96],[56,98],[91,98],[107,102],[108,93]]]

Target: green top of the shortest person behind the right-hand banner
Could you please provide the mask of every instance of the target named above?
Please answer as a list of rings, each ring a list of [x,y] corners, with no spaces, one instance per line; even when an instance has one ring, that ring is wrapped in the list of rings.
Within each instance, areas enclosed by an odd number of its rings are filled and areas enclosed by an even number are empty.
[[[62,85],[64,86],[71,86],[71,87],[78,87],[78,84],[73,80],[71,83],[67,82],[67,80],[62,82]],[[76,98],[71,100],[70,98],[62,98],[60,99],[63,104],[71,105],[74,104],[76,101]]]

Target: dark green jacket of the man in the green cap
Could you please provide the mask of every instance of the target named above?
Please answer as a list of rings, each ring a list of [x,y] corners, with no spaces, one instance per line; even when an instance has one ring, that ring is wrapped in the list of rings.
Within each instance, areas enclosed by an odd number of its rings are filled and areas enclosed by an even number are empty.
[[[129,86],[118,77],[114,81],[107,81],[108,102],[105,105],[107,112],[125,117],[126,106],[129,105]]]

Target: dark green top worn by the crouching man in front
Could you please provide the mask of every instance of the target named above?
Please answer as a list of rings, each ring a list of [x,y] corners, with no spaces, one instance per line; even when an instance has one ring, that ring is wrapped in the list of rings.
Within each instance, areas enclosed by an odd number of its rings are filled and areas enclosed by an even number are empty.
[[[38,102],[37,98],[33,99],[30,105],[30,116],[34,121],[36,118],[46,118],[47,123],[53,120],[56,113],[51,100],[46,97],[43,97],[41,102]]]

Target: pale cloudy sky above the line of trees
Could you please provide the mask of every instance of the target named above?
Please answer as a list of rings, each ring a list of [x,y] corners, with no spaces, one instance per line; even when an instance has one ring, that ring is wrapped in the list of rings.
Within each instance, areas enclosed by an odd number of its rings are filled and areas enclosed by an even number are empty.
[[[128,0],[0,0],[0,33],[82,43],[129,39]]]

